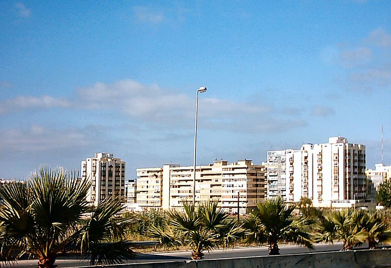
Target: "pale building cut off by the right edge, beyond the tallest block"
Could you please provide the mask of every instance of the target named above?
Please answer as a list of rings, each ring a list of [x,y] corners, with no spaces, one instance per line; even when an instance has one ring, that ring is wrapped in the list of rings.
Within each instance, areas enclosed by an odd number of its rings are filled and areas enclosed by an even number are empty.
[[[365,174],[367,175],[368,195],[370,198],[375,198],[380,184],[391,180],[391,165],[376,164],[374,170],[368,169]]]

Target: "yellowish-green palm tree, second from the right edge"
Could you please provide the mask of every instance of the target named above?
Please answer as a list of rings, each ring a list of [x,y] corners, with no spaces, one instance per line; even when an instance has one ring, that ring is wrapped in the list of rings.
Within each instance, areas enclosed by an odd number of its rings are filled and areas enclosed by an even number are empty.
[[[348,209],[326,212],[322,221],[314,227],[315,241],[332,244],[334,240],[342,240],[342,250],[361,245],[367,239],[366,231],[361,226],[364,213],[362,210]]]

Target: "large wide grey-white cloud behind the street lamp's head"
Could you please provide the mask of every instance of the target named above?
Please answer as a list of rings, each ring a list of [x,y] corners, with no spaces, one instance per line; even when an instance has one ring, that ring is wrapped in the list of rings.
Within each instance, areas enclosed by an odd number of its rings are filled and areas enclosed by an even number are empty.
[[[140,124],[162,129],[167,128],[167,125],[191,127],[195,112],[195,98],[162,89],[156,84],[143,85],[132,80],[112,84],[99,82],[91,87],[81,88],[78,100],[87,108],[118,111]],[[292,127],[305,125],[300,120],[283,119],[282,116],[286,114],[284,111],[258,100],[253,100],[253,103],[237,102],[208,98],[207,94],[202,94],[198,107],[199,118],[204,118],[203,121],[210,129],[217,130],[217,125],[228,131],[248,129],[249,126],[239,127],[247,120],[256,123],[250,130],[254,132],[288,131]],[[286,126],[286,129],[282,126]]]

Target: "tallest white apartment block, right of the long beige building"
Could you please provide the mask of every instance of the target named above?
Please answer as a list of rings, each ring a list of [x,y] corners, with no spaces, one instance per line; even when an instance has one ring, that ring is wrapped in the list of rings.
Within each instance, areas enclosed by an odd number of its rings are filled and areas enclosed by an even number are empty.
[[[349,200],[366,198],[365,145],[331,137],[327,144],[303,144],[299,150],[268,151],[267,157],[268,165],[269,158],[271,164],[276,161],[274,167],[268,166],[270,196],[276,192],[273,185],[282,185],[285,179],[287,202],[299,202],[307,197],[314,206],[338,207],[355,203]]]

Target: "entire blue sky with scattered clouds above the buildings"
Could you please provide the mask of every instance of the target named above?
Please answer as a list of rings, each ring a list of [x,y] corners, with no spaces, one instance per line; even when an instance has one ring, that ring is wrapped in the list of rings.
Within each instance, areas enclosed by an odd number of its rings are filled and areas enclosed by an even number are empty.
[[[391,165],[391,1],[0,1],[0,178],[326,143]]]

